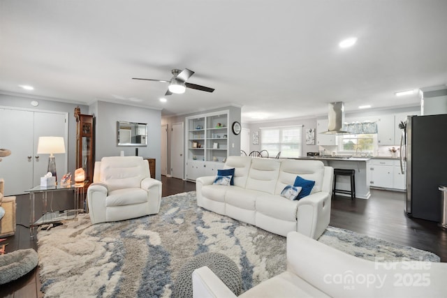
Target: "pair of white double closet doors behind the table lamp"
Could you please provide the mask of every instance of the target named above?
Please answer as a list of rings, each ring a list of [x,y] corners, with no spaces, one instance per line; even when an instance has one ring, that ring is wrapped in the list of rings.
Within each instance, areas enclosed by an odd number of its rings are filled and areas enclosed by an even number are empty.
[[[49,154],[37,154],[38,137],[64,137],[68,148],[67,113],[0,110],[0,147],[11,155],[0,163],[0,177],[5,180],[5,195],[20,195],[41,183],[47,172]],[[56,154],[58,180],[67,172],[67,154]]]

